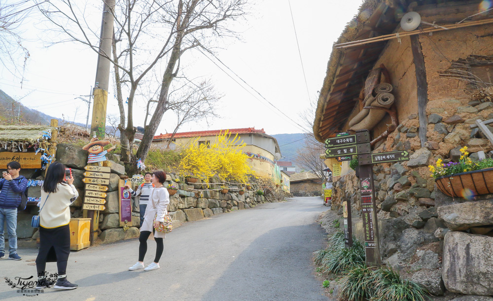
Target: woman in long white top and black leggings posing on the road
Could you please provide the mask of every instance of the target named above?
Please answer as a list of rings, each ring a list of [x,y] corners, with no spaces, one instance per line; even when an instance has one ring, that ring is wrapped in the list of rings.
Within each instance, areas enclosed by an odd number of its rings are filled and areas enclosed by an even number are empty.
[[[162,222],[164,222],[164,216],[168,212],[168,204],[170,203],[170,194],[168,190],[163,187],[163,183],[166,181],[166,172],[154,171],[152,173],[151,183],[154,184],[154,188],[149,197],[147,208],[145,209],[144,221],[141,227],[141,235],[139,236],[139,261],[128,268],[129,270],[136,270],[144,268],[144,256],[147,252],[147,238],[154,232],[154,240],[156,241],[156,257],[154,262],[150,263],[145,271],[159,268],[159,259],[163,254],[164,243],[163,238],[166,237],[165,233],[154,231],[158,228]],[[133,192],[129,185],[125,186],[126,189]]]

